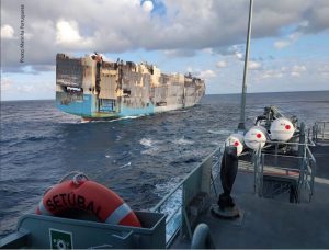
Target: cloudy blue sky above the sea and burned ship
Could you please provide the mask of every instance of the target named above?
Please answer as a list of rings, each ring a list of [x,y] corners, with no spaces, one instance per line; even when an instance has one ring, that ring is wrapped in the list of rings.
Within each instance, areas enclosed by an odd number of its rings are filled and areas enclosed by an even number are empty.
[[[1,100],[54,99],[57,53],[148,61],[239,93],[249,0],[1,0]],[[329,1],[254,0],[248,92],[329,90]]]

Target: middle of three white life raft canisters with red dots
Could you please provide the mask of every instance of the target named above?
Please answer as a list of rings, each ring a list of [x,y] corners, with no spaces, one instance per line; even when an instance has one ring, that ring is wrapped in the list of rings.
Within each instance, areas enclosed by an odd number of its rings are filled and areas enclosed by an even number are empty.
[[[248,148],[257,150],[263,148],[269,139],[266,129],[262,126],[251,127],[245,135],[245,144]]]

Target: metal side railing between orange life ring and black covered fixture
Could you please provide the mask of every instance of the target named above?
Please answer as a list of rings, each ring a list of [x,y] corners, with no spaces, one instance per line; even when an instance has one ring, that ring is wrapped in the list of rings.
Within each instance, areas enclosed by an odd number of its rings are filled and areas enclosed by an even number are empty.
[[[167,214],[167,247],[180,231],[192,238],[186,207],[200,192],[217,193],[216,179],[219,177],[220,159],[222,150],[218,147],[151,208],[152,212]]]

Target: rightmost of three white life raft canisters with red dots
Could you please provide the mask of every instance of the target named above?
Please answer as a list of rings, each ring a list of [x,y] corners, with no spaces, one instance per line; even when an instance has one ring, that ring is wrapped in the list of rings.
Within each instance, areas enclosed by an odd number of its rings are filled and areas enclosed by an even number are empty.
[[[272,122],[270,130],[271,139],[287,141],[293,137],[295,127],[288,118],[281,117]]]

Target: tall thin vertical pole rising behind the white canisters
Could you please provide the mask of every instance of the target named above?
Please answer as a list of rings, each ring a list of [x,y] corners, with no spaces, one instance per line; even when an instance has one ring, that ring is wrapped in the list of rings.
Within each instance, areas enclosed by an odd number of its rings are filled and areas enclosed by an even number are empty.
[[[247,78],[248,78],[249,45],[250,45],[251,22],[252,22],[252,4],[253,4],[253,0],[250,0],[248,33],[247,33],[246,55],[245,55],[242,94],[241,94],[240,123],[238,125],[238,130],[246,130],[246,126],[245,126],[245,121],[246,121],[245,110],[246,110],[246,93],[247,93]]]

